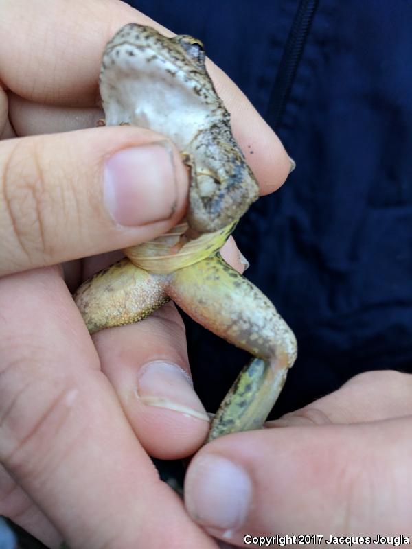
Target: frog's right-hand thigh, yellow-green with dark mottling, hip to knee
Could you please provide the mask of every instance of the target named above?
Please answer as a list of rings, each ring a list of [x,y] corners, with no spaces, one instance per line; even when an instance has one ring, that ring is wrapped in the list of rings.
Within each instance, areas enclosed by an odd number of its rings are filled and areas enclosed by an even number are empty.
[[[170,275],[167,292],[214,334],[260,358],[295,359],[295,336],[273,303],[220,254]]]

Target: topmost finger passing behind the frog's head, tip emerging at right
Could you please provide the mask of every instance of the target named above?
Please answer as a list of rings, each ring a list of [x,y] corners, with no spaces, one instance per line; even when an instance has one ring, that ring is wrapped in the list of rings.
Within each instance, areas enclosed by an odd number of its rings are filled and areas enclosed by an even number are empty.
[[[47,0],[35,4],[8,0],[6,5],[0,21],[0,80],[17,95],[38,103],[94,107],[102,51],[122,25],[141,23],[172,36],[152,19],[113,0],[77,0],[69,8],[63,0],[52,4]],[[42,16],[45,10],[47,18]],[[16,21],[20,32],[10,33]],[[45,36],[50,37],[52,47],[45,46]],[[282,143],[229,77],[211,62],[207,67],[231,113],[234,135],[262,194],[274,191],[291,168]],[[39,74],[43,78],[38,78]]]

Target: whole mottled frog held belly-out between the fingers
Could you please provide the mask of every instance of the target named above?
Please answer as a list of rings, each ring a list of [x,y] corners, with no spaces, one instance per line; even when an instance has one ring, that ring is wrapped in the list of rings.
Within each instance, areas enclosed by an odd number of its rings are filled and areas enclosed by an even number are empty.
[[[127,248],[126,259],[79,288],[75,299],[84,321],[91,333],[133,323],[172,299],[253,355],[216,413],[208,440],[260,428],[295,361],[296,341],[271,301],[219,254],[258,198],[258,184],[206,71],[203,45],[126,25],[104,51],[100,95],[106,125],[167,136],[190,166],[191,181],[181,224]]]

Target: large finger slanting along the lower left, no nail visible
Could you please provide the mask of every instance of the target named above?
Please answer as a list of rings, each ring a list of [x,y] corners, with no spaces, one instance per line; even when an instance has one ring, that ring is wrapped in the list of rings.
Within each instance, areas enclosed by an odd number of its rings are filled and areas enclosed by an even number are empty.
[[[69,546],[214,547],[159,481],[57,270],[4,277],[0,307],[0,460]]]

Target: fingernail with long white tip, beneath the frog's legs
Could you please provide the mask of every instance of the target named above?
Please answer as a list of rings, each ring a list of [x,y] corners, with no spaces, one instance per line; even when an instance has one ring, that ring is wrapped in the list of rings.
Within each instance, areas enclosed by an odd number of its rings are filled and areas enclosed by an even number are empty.
[[[143,366],[137,379],[137,396],[148,406],[167,408],[209,422],[194,392],[192,379],[176,364],[155,361]]]

